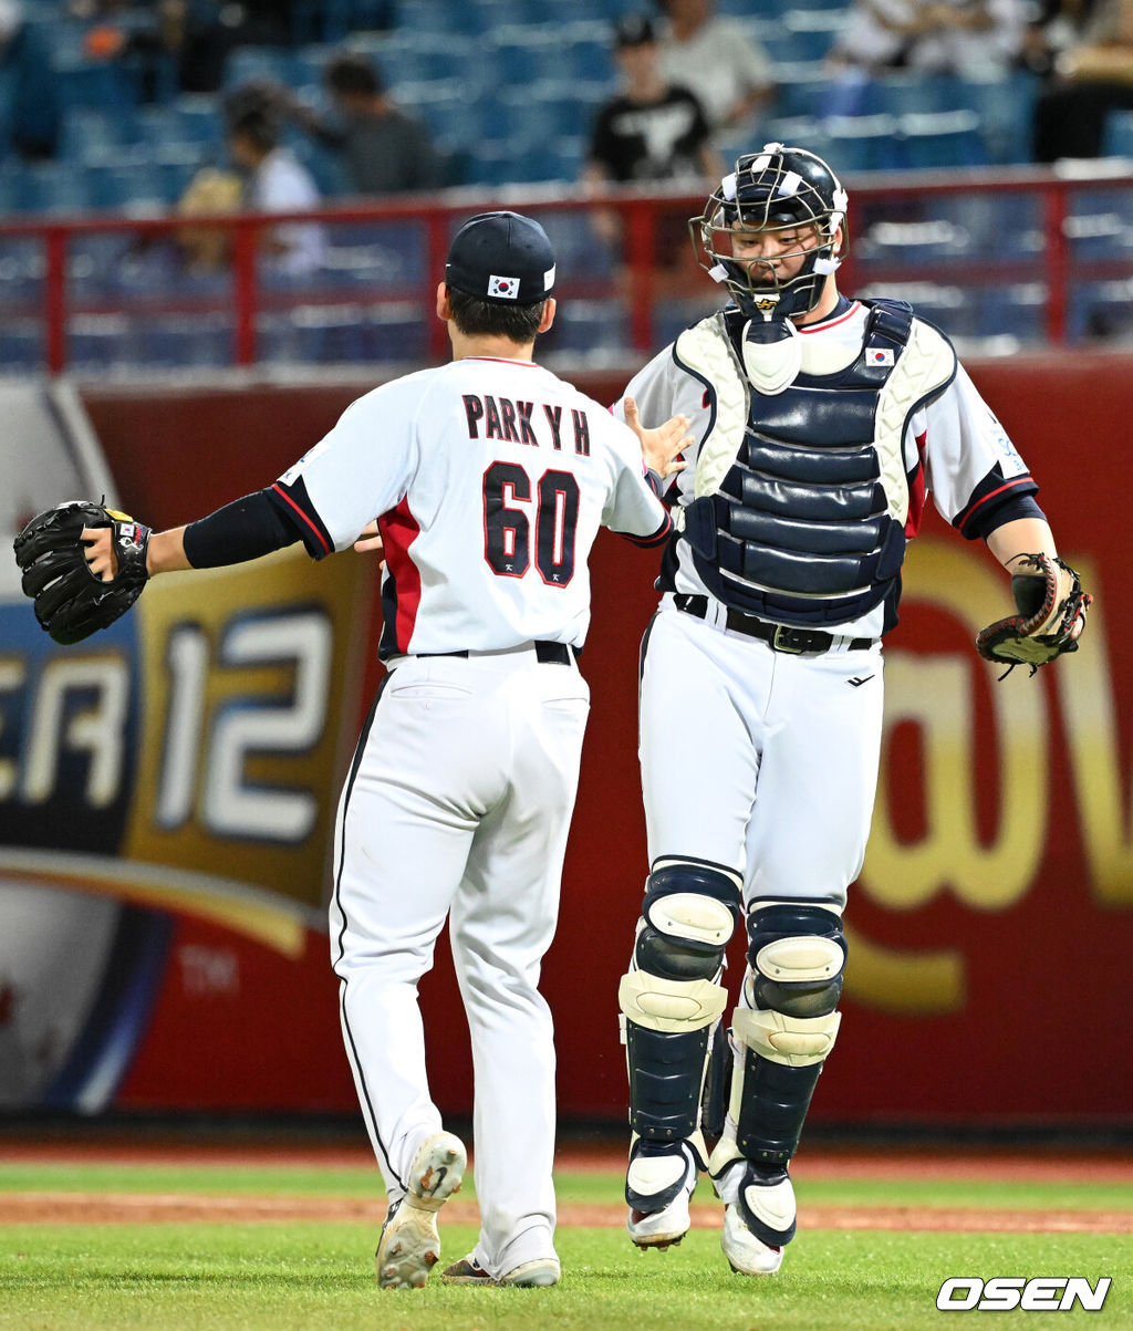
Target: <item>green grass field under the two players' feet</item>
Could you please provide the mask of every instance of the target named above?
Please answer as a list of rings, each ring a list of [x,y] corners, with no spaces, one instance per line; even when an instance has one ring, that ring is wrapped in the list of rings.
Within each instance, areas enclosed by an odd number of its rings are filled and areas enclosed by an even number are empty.
[[[561,1207],[615,1203],[615,1173],[565,1173]],[[0,1218],[12,1193],[182,1194],[354,1201],[375,1194],[370,1170],[36,1163],[0,1159]],[[258,1221],[192,1223],[0,1225],[0,1327],[21,1331],[192,1328],[437,1328],[491,1331],[755,1331],[755,1328],[940,1327],[936,1294],[951,1275],[1113,1279],[1104,1311],[1076,1308],[1093,1327],[1133,1327],[1133,1238],[1118,1233],[925,1233],[807,1229],[807,1209],[977,1207],[1050,1214],[1090,1210],[1133,1215],[1133,1185],[904,1178],[803,1179],[803,1227],[783,1271],[770,1280],[732,1275],[715,1229],[695,1227],[679,1248],[638,1252],[620,1229],[562,1226],[563,1282],[554,1290],[378,1291],[377,1225]],[[462,1193],[471,1194],[471,1187]],[[702,1183],[696,1201],[711,1194]],[[374,1214],[381,1215],[375,1203]],[[445,1259],[474,1240],[446,1225]],[[969,1314],[973,1316],[975,1314]],[[1004,1314],[1000,1314],[1004,1316]],[[1007,1314],[1019,1319],[1050,1314]],[[947,1324],[947,1322],[945,1322]]]

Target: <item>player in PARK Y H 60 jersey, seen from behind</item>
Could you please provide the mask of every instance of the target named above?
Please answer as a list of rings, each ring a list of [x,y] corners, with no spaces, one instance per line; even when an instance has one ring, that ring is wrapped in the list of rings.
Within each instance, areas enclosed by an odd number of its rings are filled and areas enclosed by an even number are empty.
[[[482,1229],[445,1271],[559,1279],[551,1183],[555,1055],[539,965],[558,910],[588,689],[576,658],[599,526],[663,543],[647,478],[679,469],[688,422],[632,431],[533,361],[555,315],[538,222],[473,217],[437,314],[450,363],[386,383],[274,484],[170,531],[69,503],[16,538],[24,590],[63,643],[111,623],[146,579],[302,542],[322,559],[377,526],[389,667],[338,808],[330,945],[358,1098],[389,1194],[378,1284],[421,1286],[465,1146],[429,1093],[417,985],[446,917],[475,1069]],[[627,418],[636,421],[631,405]],[[644,454],[644,461],[643,461]]]

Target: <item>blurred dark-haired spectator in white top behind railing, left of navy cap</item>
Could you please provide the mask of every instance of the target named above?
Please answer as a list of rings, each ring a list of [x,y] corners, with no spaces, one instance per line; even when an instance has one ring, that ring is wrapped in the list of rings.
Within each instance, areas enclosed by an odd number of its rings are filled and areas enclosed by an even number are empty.
[[[288,148],[280,126],[264,106],[250,105],[228,129],[228,149],[245,176],[242,205],[257,213],[297,213],[318,206],[318,186]],[[322,264],[322,228],[314,222],[281,222],[261,232],[261,249],[280,273],[301,277]]]

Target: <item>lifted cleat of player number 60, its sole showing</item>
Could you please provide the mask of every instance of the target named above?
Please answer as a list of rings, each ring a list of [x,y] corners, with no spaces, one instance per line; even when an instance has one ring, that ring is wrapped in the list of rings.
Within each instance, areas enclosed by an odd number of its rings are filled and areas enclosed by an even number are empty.
[[[419,1290],[441,1256],[437,1211],[461,1187],[467,1155],[451,1133],[437,1133],[413,1159],[409,1191],[390,1207],[378,1239],[378,1288]]]

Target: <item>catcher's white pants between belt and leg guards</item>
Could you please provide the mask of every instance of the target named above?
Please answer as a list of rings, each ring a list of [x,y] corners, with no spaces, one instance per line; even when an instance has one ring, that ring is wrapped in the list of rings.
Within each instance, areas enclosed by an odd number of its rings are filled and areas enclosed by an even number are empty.
[[[841,912],[873,813],[881,671],[880,647],[790,655],[662,608],[640,685],[650,864],[708,860],[743,874],[746,905]]]

